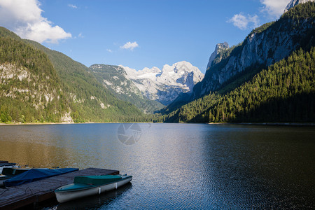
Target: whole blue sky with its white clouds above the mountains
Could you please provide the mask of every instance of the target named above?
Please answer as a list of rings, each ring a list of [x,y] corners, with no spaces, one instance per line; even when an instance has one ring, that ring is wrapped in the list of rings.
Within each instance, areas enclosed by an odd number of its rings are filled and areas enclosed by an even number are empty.
[[[290,0],[0,0],[0,26],[91,66],[187,61],[203,73],[217,43],[237,45]]]

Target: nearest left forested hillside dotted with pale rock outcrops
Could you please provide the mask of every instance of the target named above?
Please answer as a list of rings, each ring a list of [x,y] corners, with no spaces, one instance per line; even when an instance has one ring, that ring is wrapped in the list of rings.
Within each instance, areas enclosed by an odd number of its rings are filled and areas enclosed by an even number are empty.
[[[0,31],[0,121],[59,121],[69,104],[47,55]]]

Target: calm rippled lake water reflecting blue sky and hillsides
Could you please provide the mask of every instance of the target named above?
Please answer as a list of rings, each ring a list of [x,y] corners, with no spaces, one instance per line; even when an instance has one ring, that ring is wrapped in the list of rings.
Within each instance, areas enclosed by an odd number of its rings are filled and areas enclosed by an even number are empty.
[[[255,125],[0,126],[0,160],[133,176],[55,209],[313,209],[315,129]]]

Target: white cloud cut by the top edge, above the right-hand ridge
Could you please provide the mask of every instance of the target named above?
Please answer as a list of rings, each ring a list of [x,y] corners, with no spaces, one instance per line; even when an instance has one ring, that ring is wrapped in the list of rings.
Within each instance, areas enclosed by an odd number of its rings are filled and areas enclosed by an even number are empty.
[[[269,18],[279,18],[289,2],[290,0],[260,0],[264,5],[261,11],[267,13]]]

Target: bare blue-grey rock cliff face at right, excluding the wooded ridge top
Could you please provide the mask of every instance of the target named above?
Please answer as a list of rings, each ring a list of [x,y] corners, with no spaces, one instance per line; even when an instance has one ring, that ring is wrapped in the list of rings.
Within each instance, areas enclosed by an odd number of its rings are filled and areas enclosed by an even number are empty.
[[[246,69],[274,64],[288,57],[301,45],[309,45],[314,41],[314,18],[293,19],[283,16],[277,22],[254,29],[237,47],[225,50],[223,58],[212,62],[204,80],[195,85],[193,98],[218,90],[223,83]],[[219,55],[222,53],[216,58]]]

